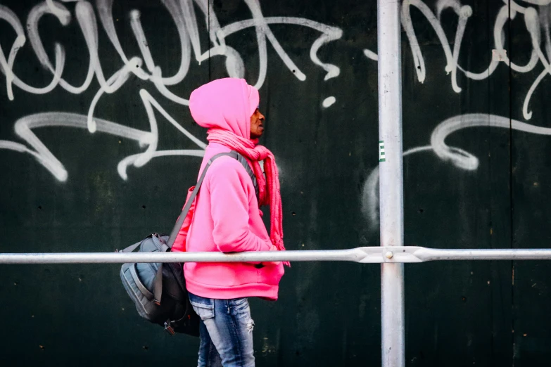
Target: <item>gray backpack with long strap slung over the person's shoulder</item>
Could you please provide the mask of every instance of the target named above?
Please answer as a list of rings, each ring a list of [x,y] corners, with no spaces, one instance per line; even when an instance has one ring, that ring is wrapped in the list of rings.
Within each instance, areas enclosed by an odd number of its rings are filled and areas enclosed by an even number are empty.
[[[172,249],[172,244],[178,235],[179,229],[184,223],[191,203],[203,184],[203,179],[207,173],[208,167],[213,164],[218,157],[227,155],[241,162],[248,175],[253,180],[255,191],[258,195],[258,184],[255,174],[249,167],[247,160],[239,153],[232,150],[230,153],[220,153],[208,161],[203,173],[197,182],[194,191],[186,202],[182,214],[170,237],[152,233],[139,243],[120,250],[120,252],[166,252]],[[170,335],[175,333],[184,333],[188,335],[199,335],[199,316],[195,313],[189,303],[189,297],[186,290],[186,281],[184,278],[182,263],[128,263],[122,264],[120,269],[120,278],[128,295],[136,304],[138,314],[151,323],[157,323],[164,326]]]

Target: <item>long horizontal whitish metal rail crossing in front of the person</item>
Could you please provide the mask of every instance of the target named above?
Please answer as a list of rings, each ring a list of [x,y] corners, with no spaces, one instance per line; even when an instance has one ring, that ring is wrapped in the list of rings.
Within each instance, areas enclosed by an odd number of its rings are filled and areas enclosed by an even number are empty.
[[[551,260],[551,249],[447,250],[416,246],[349,250],[222,252],[51,252],[0,254],[0,264],[113,264],[125,262],[383,262],[439,260]]]

